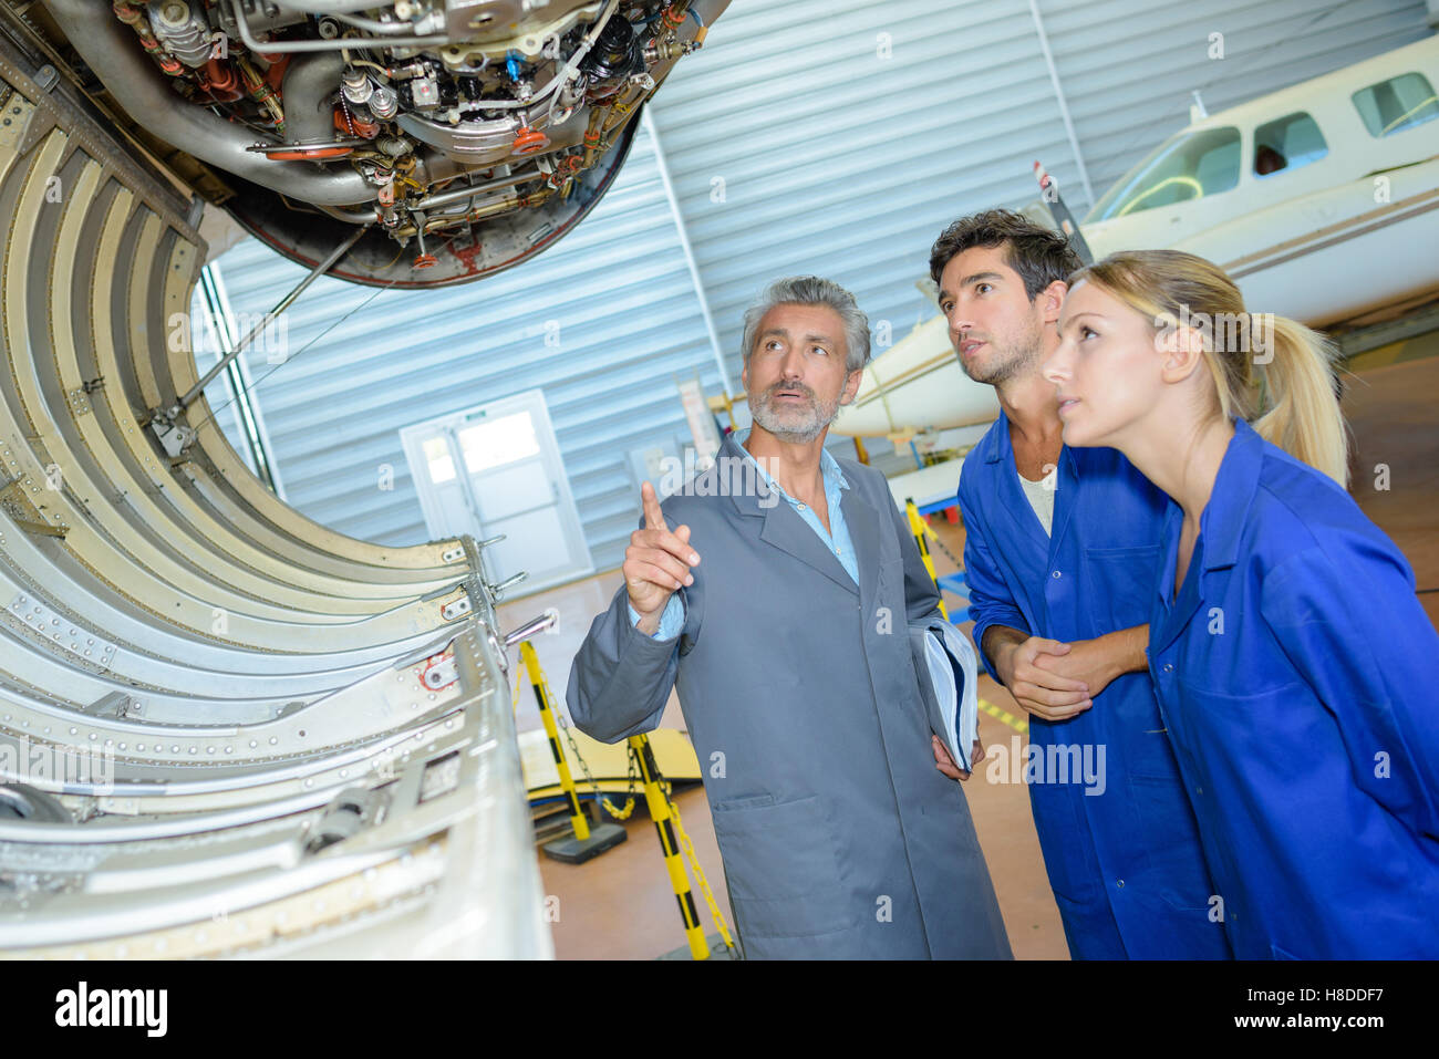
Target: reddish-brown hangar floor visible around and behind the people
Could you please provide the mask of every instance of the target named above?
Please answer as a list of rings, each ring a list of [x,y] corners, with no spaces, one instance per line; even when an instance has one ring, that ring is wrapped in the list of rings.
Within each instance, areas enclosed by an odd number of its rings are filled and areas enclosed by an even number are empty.
[[[1439,332],[1361,354],[1348,368],[1356,374],[1348,380],[1344,400],[1356,442],[1353,494],[1409,557],[1420,600],[1430,620],[1439,624],[1439,429],[1435,426]],[[1387,466],[1387,488],[1381,465]],[[934,525],[945,547],[960,555],[964,531],[943,518],[934,519]],[[943,554],[935,554],[935,564],[941,574],[954,570]],[[547,607],[558,609],[558,632],[534,640],[557,698],[563,698],[570,659],[591,616],[609,604],[619,584],[619,571],[610,571],[499,609],[501,627],[507,629]],[[954,606],[953,597],[948,601]],[[981,679],[980,696],[1023,724],[1013,699],[989,676]],[[662,724],[684,727],[673,695]],[[518,727],[521,731],[540,727],[528,695],[521,696]],[[1017,732],[1003,719],[981,712],[980,735],[986,745],[1009,745]],[[1025,787],[987,783],[980,773],[966,786],[966,794],[1014,955],[1022,960],[1066,958],[1063,930],[1045,879]],[[702,790],[695,786],[682,791],[678,804],[715,896],[732,922]],[[589,863],[563,865],[540,858],[545,894],[558,898],[558,921],[553,924],[557,957],[645,960],[684,945],[653,827],[642,813],[630,817],[626,826],[629,840]],[[701,921],[712,932],[702,908]]]

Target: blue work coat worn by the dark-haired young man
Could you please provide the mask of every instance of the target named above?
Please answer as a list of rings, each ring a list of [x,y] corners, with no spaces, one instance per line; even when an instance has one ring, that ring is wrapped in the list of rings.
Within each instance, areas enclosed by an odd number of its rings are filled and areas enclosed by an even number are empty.
[[[1068,642],[1148,620],[1167,498],[1114,449],[1063,449],[1048,538],[1019,485],[1000,414],[964,458],[958,501],[976,643],[991,624]],[[999,679],[987,658],[984,665]],[[1227,958],[1148,675],[1120,676],[1068,721],[1030,717],[1029,740],[1046,754],[1050,745],[1105,748],[1102,794],[1072,778],[1029,784],[1071,954]]]

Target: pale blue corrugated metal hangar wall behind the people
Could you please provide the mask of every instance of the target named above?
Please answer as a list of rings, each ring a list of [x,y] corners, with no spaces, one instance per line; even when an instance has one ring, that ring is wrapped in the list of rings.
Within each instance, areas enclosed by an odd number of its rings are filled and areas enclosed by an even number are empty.
[[[1089,207],[1036,12],[1095,196],[1187,124],[1196,88],[1217,111],[1429,33],[1423,0],[734,0],[652,117],[735,384],[740,317],[767,281],[829,275],[898,340],[932,312],[915,281],[934,236],[1036,199],[1036,158]],[[302,275],[253,242],[220,262],[237,312]],[[616,565],[637,514],[629,452],[685,435],[673,376],[720,388],[643,131],[548,253],[472,286],[373,295],[319,281],[288,314],[302,353],[269,377],[249,358],[291,502],[357,537],[423,540],[399,429],[538,386],[596,565]]]

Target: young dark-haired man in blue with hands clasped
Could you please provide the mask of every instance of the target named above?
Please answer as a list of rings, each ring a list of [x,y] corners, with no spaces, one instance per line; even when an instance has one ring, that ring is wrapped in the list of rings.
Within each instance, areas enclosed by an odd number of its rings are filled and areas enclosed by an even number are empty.
[[[1062,235],[1007,210],[955,222],[930,258],[960,365],[1000,403],[958,489],[974,640],[1030,714],[1026,781],[1069,953],[1229,958],[1145,659],[1166,498],[1114,449],[1065,447],[1039,371],[1076,268]]]

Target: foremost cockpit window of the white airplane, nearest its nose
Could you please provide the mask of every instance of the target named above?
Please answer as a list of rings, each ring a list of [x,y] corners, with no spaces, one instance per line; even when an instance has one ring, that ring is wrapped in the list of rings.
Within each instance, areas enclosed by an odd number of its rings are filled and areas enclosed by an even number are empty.
[[[1202,199],[1239,183],[1239,129],[1180,132],[1166,140],[1095,203],[1085,222]]]

